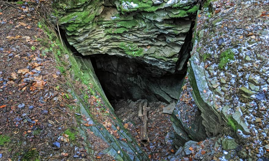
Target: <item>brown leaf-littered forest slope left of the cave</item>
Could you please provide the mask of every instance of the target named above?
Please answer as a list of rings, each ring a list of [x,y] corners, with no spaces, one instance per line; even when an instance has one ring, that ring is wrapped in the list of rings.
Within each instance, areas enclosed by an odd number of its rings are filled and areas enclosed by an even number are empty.
[[[60,50],[41,29],[39,9],[35,2],[0,1],[0,160],[87,155],[73,128],[76,100],[67,92],[68,75],[53,56]]]

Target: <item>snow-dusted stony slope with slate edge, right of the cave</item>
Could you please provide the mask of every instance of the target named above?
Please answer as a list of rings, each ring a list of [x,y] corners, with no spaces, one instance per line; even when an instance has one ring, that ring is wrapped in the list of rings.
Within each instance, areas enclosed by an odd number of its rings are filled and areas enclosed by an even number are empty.
[[[193,98],[208,136],[234,133],[243,159],[268,157],[268,4],[211,2],[197,15],[189,60]]]

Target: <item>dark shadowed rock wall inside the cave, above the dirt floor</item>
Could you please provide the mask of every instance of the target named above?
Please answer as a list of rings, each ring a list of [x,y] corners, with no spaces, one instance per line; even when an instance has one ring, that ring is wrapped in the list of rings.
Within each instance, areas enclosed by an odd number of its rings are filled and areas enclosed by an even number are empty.
[[[171,74],[136,59],[97,54],[90,57],[106,96],[170,102],[179,98],[185,74]]]

